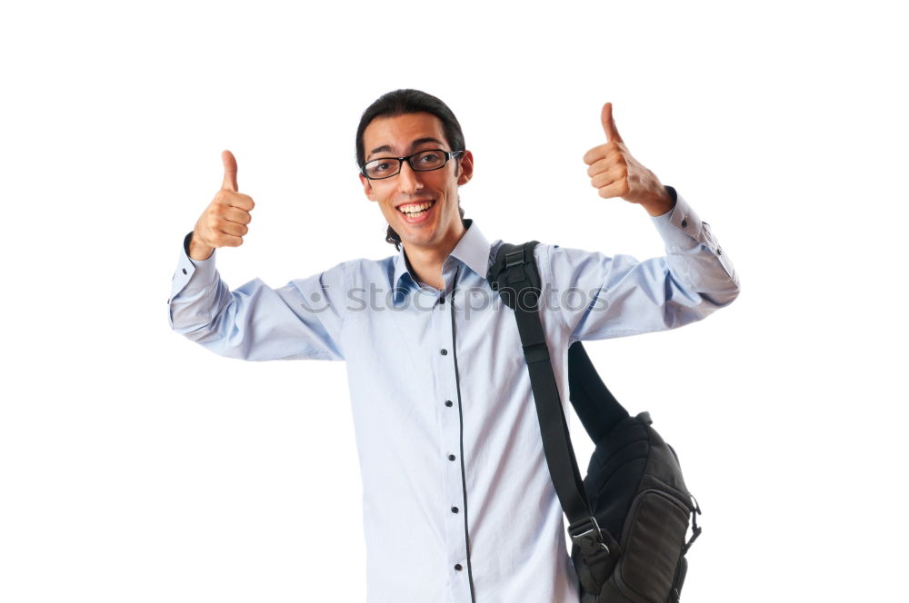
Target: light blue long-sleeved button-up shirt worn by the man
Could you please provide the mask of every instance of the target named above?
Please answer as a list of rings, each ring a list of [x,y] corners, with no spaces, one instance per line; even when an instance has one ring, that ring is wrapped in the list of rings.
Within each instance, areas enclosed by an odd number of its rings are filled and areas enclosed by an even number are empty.
[[[733,265],[681,196],[653,222],[666,256],[644,262],[536,247],[566,410],[571,343],[680,327],[738,294]],[[465,224],[441,292],[416,282],[403,248],[232,292],[216,252],[194,261],[184,244],[168,318],[223,356],[347,362],[370,603],[576,603],[514,313],[486,281],[501,241]]]

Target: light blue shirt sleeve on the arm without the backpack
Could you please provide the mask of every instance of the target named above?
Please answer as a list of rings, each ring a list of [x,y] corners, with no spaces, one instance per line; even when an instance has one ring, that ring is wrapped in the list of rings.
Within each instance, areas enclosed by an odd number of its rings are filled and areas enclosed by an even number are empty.
[[[167,300],[171,329],[217,354],[246,361],[342,361],[346,262],[273,289],[260,279],[231,291],[185,236]]]

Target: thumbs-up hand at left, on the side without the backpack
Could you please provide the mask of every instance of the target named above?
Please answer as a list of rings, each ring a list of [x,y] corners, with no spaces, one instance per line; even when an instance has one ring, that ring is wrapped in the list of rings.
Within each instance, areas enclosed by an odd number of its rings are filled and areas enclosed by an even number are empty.
[[[193,238],[189,242],[189,257],[207,260],[216,247],[239,247],[243,236],[249,232],[246,224],[252,220],[249,213],[255,207],[248,194],[237,193],[236,160],[234,153],[221,153],[225,164],[225,179],[215,199],[195,222]]]

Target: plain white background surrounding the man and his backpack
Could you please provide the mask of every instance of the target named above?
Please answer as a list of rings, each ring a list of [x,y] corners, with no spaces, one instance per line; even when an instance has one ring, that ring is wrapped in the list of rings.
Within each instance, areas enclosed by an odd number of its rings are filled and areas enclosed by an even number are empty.
[[[662,254],[584,172],[612,101],[734,262],[728,309],[587,345],[701,501],[684,600],[903,598],[894,5],[6,3],[0,600],[364,600],[344,363],[218,357],[165,299],[225,148],[256,202],[232,287],[393,253],[354,135],[398,87],[457,114],[491,239]]]

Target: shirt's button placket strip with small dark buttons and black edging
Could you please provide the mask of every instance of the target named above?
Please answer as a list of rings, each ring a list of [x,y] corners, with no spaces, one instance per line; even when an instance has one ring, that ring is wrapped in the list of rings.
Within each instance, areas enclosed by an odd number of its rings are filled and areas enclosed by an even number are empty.
[[[451,584],[451,600],[454,603],[469,603],[473,600],[471,571],[469,567],[468,534],[466,527],[466,479],[462,459],[464,408],[459,392],[457,362],[457,333],[452,322],[452,292],[457,286],[455,262],[445,262],[443,279],[445,292],[437,294],[432,311],[433,334],[437,351],[435,353],[436,400],[441,414],[441,447],[439,463],[445,489],[445,507],[437,512],[443,516],[445,544],[447,547],[446,568]],[[454,287],[453,287],[454,285]],[[456,294],[456,292],[455,292]],[[455,304],[456,306],[457,304]],[[455,322],[457,319],[455,311]],[[456,324],[455,324],[456,328]]]

